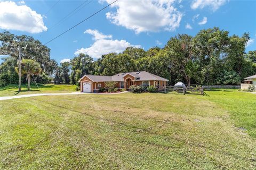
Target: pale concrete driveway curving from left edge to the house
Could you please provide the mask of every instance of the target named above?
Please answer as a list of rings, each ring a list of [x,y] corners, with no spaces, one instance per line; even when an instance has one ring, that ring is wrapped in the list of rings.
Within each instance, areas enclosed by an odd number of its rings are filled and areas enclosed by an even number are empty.
[[[117,95],[117,94],[123,94],[128,91],[123,92],[115,92],[113,94],[94,94],[90,92],[71,92],[71,93],[65,93],[65,94],[30,94],[30,95],[20,95],[20,96],[3,96],[0,97],[0,100],[10,100],[10,99],[18,99],[18,98],[24,98],[24,97],[34,97],[34,96],[56,96],[56,95],[85,95],[85,94],[92,94],[92,95]]]

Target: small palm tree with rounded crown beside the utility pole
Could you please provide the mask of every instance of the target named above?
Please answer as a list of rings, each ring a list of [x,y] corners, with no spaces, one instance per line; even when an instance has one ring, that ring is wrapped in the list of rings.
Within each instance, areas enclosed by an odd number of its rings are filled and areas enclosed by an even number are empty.
[[[28,91],[30,90],[30,77],[38,75],[42,71],[41,66],[35,60],[23,59],[21,61],[21,74],[27,75],[28,79]]]

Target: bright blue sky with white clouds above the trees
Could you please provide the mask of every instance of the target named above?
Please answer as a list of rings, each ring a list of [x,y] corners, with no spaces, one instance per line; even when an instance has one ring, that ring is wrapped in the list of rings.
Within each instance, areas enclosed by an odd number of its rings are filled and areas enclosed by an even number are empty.
[[[0,31],[33,36],[44,44],[111,2],[0,0]],[[56,25],[79,5],[79,11]],[[47,46],[57,62],[71,59],[79,52],[96,60],[102,54],[119,53],[128,46],[145,50],[163,47],[178,33],[195,36],[201,29],[219,27],[230,35],[249,32],[251,40],[246,51],[255,50],[255,9],[256,1],[119,0]]]

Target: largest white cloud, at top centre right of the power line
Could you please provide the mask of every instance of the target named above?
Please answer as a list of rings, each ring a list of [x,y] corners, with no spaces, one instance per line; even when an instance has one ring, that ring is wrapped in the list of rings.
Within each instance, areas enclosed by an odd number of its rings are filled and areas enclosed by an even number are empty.
[[[116,12],[108,12],[106,16],[112,23],[134,30],[135,33],[174,31],[180,25],[182,13],[173,4],[174,0],[118,1],[111,5],[116,7]]]

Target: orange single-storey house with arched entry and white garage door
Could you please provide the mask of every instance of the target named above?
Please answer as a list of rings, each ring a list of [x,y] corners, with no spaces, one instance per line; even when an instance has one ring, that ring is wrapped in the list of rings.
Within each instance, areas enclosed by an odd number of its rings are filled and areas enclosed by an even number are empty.
[[[117,82],[116,87],[119,89],[129,89],[132,85],[153,85],[159,89],[163,89],[163,87],[166,86],[166,81],[168,80],[146,71],[119,73],[113,76],[85,74],[80,80],[78,80],[78,82],[80,82],[81,92],[97,92],[100,88],[105,87],[105,82],[108,81]]]

